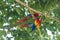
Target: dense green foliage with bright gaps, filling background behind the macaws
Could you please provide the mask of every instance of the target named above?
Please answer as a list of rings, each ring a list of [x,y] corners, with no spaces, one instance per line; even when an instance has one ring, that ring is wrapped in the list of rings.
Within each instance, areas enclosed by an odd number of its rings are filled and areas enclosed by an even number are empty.
[[[25,0],[20,0],[26,3]],[[27,0],[29,7],[42,12],[41,36],[36,29],[31,32],[31,27],[19,28],[16,23],[26,17],[25,12],[32,13],[25,6],[15,0],[0,0],[0,40],[14,38],[14,40],[60,40],[60,0]],[[45,16],[46,14],[46,16]],[[47,17],[49,16],[49,17]],[[33,23],[33,18],[24,23]],[[22,24],[24,24],[22,23]],[[11,34],[12,37],[8,37]]]

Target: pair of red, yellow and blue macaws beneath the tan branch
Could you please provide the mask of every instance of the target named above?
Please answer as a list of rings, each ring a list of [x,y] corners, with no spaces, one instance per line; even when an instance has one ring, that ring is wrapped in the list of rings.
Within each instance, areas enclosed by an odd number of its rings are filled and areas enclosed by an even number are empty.
[[[32,31],[35,30],[36,27],[40,28],[41,22],[42,22],[42,18],[40,17],[41,15],[38,14],[38,13],[35,13],[35,14],[33,14],[33,16],[34,16],[34,23],[32,23],[32,24],[29,24],[29,23],[28,24],[23,24],[23,25],[20,26],[20,28],[31,26]],[[18,20],[17,22],[18,23],[23,23],[23,22],[27,21],[29,18],[32,18],[33,16],[32,16],[32,14],[29,14],[29,15],[27,15],[27,17],[24,17],[21,20]],[[38,18],[38,17],[40,17],[40,18]]]

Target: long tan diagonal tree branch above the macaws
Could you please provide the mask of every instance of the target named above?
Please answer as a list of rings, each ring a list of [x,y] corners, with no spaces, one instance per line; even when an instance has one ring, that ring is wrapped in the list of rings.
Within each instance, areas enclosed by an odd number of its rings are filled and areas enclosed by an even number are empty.
[[[27,7],[29,10],[31,10],[31,11],[33,11],[33,12],[42,14],[42,12],[37,11],[37,10],[35,10],[35,9],[31,8],[31,7],[29,7],[28,5],[26,5],[25,3],[23,3],[23,2],[20,1],[20,0],[16,0],[16,2],[19,3],[19,4],[21,4],[21,5],[23,5],[23,6],[25,6],[25,7]],[[45,17],[48,17],[48,18],[50,18],[50,19],[55,19],[56,22],[60,22],[59,19],[57,19],[56,17],[50,16],[48,13],[42,14],[42,15],[44,15]]]

